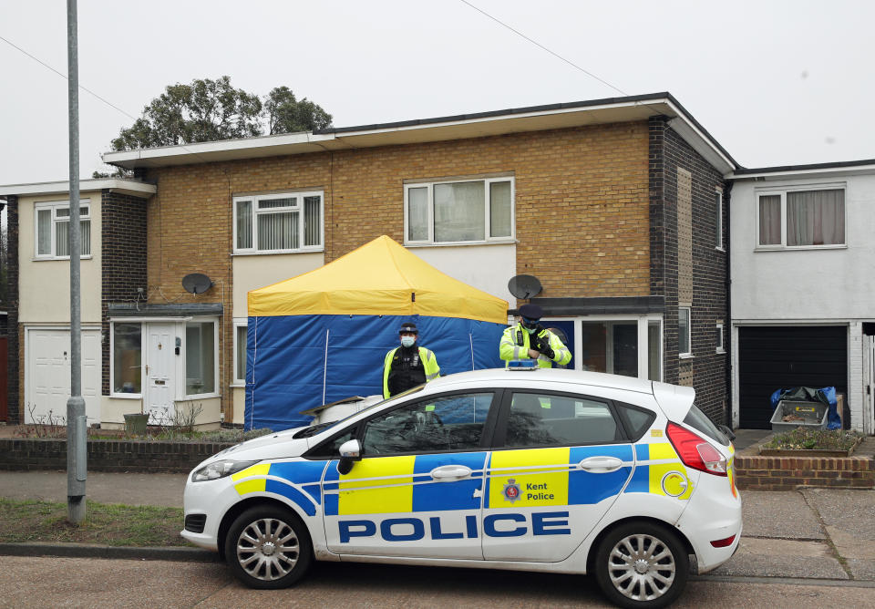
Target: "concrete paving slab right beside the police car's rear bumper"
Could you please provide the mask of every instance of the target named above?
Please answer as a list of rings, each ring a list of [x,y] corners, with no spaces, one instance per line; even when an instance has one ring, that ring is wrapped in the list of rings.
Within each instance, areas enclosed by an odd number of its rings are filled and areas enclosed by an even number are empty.
[[[743,490],[741,507],[745,537],[827,538],[817,514],[796,490]]]

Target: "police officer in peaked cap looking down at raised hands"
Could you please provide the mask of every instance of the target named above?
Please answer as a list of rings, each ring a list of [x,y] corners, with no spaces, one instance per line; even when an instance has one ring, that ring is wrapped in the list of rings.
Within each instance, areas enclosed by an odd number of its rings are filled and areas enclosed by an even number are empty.
[[[543,315],[538,305],[520,306],[520,322],[501,335],[501,359],[509,363],[514,359],[537,359],[540,368],[549,368],[553,362],[564,366],[571,361],[571,351],[560,337],[538,323]]]

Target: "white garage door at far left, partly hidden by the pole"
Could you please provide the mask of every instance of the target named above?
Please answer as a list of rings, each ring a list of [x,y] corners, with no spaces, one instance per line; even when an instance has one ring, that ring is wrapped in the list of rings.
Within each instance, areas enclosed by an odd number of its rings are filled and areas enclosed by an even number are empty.
[[[70,397],[70,331],[28,330],[26,423],[67,421]],[[82,397],[88,425],[100,422],[100,331],[82,331]],[[60,421],[58,419],[61,419]]]

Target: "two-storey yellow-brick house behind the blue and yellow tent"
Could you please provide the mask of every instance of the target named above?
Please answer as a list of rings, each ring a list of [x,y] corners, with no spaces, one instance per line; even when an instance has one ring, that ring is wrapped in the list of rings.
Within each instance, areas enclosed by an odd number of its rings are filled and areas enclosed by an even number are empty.
[[[510,278],[536,276],[532,302],[567,335],[570,366],[694,386],[726,422],[723,176],[737,165],[667,93],[103,159],[154,189],[124,208],[136,228],[102,212],[104,232],[91,229],[106,243],[95,321],[107,426],[185,404],[202,424],[242,422],[247,292],[381,234],[511,306]],[[39,199],[28,188],[0,187],[11,214]],[[33,247],[18,248],[22,268]],[[211,280],[201,294],[183,288],[194,273]],[[37,324],[22,322],[25,306],[10,311],[19,335]],[[31,355],[14,342],[21,370]],[[15,419],[22,397],[9,393]]]

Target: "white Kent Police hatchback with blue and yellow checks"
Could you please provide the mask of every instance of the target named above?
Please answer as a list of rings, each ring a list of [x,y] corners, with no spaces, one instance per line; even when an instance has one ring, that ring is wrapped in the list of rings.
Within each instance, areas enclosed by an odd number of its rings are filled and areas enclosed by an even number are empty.
[[[660,607],[741,535],[728,429],[690,387],[561,369],[438,378],[192,470],[182,536],[253,588],[314,560],[593,573]]]

